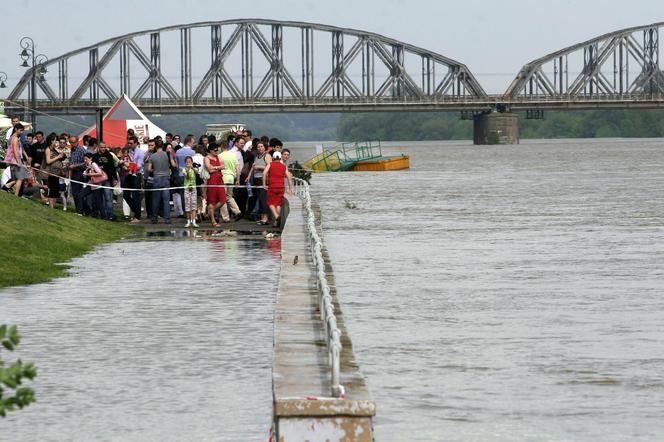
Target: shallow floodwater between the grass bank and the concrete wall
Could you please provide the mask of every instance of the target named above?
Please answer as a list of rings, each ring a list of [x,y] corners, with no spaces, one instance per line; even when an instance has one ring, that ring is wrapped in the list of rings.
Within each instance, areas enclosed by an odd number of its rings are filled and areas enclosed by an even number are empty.
[[[38,402],[0,418],[0,440],[267,440],[279,250],[120,242],[74,260],[71,277],[1,291]]]

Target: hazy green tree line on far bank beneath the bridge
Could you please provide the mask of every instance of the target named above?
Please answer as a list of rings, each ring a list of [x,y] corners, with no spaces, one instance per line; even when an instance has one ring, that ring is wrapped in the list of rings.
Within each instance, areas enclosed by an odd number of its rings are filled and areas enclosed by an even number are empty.
[[[458,112],[363,112],[292,114],[187,114],[148,116],[163,129],[203,133],[209,123],[245,123],[254,135],[286,141],[471,140],[472,120]],[[92,116],[68,116],[65,130],[77,133],[94,124]],[[63,128],[61,120],[40,117],[40,128]],[[528,138],[664,137],[664,109],[545,111],[543,120],[519,113],[519,132]]]

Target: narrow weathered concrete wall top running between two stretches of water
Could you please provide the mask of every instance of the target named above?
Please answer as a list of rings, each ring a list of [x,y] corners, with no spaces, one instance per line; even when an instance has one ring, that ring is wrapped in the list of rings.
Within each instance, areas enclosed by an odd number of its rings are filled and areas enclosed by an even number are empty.
[[[297,258],[297,259],[296,259]],[[331,268],[328,264],[328,274]],[[274,315],[274,423],[279,441],[371,441],[375,404],[355,361],[334,291],[342,332],[341,384],[345,397],[331,397],[325,331],[302,203],[290,198],[282,232],[281,275]]]

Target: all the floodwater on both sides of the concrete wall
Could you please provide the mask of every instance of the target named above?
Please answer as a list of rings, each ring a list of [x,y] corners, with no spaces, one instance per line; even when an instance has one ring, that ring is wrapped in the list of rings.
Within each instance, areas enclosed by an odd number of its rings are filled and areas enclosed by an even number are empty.
[[[386,150],[312,181],[376,440],[662,440],[664,140]],[[278,253],[118,243],[0,292],[40,372],[0,434],[266,440]]]

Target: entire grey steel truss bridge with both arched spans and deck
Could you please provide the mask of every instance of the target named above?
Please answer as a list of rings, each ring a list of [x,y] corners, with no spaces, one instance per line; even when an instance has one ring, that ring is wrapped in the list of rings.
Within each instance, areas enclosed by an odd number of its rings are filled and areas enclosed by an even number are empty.
[[[504,94],[487,95],[464,64],[370,32],[263,19],[193,23],[38,64],[6,105],[90,113],[127,94],[148,113],[664,107],[663,27],[553,52],[524,65]]]

